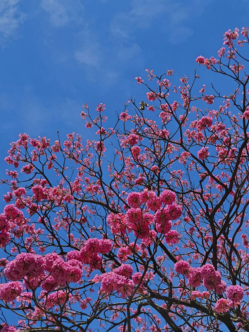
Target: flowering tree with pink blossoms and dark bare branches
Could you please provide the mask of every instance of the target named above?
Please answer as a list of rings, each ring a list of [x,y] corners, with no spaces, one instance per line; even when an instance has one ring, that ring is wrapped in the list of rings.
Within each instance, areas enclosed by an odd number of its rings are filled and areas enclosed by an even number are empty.
[[[248,30],[196,59],[227,94],[147,69],[148,101],[128,100],[113,128],[85,104],[96,140],[11,144],[2,332],[249,331],[249,60],[235,48]]]

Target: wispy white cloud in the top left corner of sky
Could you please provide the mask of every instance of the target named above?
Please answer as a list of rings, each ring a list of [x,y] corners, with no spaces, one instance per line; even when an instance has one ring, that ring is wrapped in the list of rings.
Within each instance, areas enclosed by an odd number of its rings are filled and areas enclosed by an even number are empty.
[[[0,36],[2,39],[13,35],[23,22],[25,15],[19,10],[19,0],[0,1]]]

